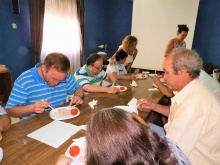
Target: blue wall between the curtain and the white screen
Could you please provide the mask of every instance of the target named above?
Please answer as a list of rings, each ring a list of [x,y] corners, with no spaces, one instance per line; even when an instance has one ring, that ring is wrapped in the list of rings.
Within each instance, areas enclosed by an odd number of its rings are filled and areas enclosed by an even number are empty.
[[[107,44],[113,55],[123,38],[131,34],[132,0],[85,1],[85,59],[94,52],[103,51],[97,46]]]

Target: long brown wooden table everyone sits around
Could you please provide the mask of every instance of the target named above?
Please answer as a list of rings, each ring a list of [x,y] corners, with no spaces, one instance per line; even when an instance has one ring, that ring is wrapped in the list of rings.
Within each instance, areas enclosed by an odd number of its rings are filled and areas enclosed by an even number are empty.
[[[87,94],[84,98],[84,103],[77,106],[80,110],[80,115],[73,119],[64,120],[64,122],[75,125],[86,124],[89,116],[102,108],[116,105],[127,105],[127,103],[133,97],[137,99],[140,97],[146,97],[154,102],[158,102],[162,97],[161,92],[152,93],[147,90],[148,88],[152,87],[152,78],[148,77],[147,79],[137,80],[136,82],[138,87],[130,87],[131,81],[120,81],[119,84],[127,86],[128,90],[118,94]],[[88,102],[92,101],[93,99],[98,100],[98,104],[95,106],[95,109],[91,109],[88,106]],[[139,113],[142,118],[145,118],[148,114],[146,112]],[[9,130],[3,132],[3,140],[0,142],[0,146],[3,148],[4,157],[1,164],[52,165],[55,163],[58,156],[64,154],[69,145],[72,144],[73,138],[83,136],[83,130],[81,130],[57,149],[27,137],[27,134],[53,121],[48,114],[48,111],[44,112],[43,114],[38,114],[32,118],[13,124]]]

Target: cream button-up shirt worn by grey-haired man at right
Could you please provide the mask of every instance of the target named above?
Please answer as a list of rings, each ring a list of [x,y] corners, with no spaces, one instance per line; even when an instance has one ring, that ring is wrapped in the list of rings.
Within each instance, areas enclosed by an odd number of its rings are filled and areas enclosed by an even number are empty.
[[[220,101],[195,79],[171,99],[167,137],[174,140],[193,165],[220,163]]]

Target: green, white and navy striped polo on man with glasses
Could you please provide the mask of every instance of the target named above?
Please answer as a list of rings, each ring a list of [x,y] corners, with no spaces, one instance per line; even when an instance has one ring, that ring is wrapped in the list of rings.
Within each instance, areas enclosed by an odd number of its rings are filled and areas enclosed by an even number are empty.
[[[100,86],[101,81],[104,80],[106,77],[107,73],[104,70],[102,70],[99,74],[93,76],[89,71],[87,65],[79,68],[74,74],[74,78],[82,87],[86,84]]]

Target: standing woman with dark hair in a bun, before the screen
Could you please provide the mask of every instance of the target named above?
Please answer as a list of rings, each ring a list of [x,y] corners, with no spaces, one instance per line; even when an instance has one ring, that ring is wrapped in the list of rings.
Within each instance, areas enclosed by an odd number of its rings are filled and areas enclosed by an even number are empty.
[[[178,25],[177,27],[178,31],[176,34],[176,38],[168,41],[166,49],[164,51],[164,57],[166,57],[173,48],[186,47],[186,42],[184,41],[184,39],[188,34],[189,28],[187,27],[187,25]]]

